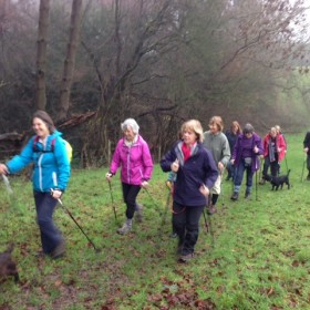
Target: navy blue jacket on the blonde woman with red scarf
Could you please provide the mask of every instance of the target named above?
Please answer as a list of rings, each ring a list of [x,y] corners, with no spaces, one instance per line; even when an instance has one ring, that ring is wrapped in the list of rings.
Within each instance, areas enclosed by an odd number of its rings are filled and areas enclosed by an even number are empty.
[[[174,200],[183,206],[205,206],[207,198],[199,192],[205,184],[209,189],[214,186],[218,172],[211,153],[203,144],[197,143],[190,157],[184,163],[182,141],[162,158],[163,172],[170,172],[170,165],[178,158],[179,169],[174,185]]]

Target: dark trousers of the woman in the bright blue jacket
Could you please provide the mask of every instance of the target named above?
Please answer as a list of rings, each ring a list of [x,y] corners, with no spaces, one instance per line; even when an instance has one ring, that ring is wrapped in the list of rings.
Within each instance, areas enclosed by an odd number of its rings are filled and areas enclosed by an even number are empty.
[[[53,213],[58,200],[50,193],[34,192],[33,195],[43,252],[51,254],[58,245],[63,242],[60,230],[53,224]]]

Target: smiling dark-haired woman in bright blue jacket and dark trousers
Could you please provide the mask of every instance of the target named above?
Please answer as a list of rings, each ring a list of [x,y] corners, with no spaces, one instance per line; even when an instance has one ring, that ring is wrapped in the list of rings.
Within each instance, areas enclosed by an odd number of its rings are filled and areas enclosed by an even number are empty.
[[[6,165],[0,164],[0,174],[14,174],[33,163],[33,196],[43,254],[59,258],[64,255],[65,246],[52,217],[58,198],[65,190],[70,178],[70,161],[62,134],[55,130],[46,112],[37,111],[33,114],[32,127],[35,135],[20,155]]]

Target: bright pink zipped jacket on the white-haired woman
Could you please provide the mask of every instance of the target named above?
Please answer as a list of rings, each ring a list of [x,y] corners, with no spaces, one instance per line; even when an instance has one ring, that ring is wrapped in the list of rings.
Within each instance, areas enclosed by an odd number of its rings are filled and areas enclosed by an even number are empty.
[[[113,154],[110,172],[116,174],[122,167],[121,180],[126,184],[141,185],[148,180],[153,172],[153,161],[147,143],[138,135],[137,142],[126,146],[124,138],[121,138]]]

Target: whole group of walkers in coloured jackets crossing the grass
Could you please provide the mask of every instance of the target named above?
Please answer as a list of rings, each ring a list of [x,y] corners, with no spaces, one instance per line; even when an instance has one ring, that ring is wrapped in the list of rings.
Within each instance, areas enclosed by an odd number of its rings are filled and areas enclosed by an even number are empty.
[[[180,138],[161,161],[163,172],[169,172],[169,184],[173,184],[172,223],[173,231],[178,237],[177,254],[180,262],[194,257],[199,219],[206,206],[210,215],[217,211],[216,204],[221,192],[225,168],[228,170],[227,179],[231,178],[234,182],[232,200],[239,198],[246,172],[245,198],[249,199],[252,176],[260,167],[261,157],[265,163],[260,183],[264,183],[269,166],[271,175],[279,174],[279,163],[287,152],[286,140],[276,126],[264,141],[255,133],[251,124],[246,124],[241,130],[235,121],[230,130],[224,133],[221,117],[213,116],[208,126],[209,130],[204,133],[199,121],[185,122],[180,127]],[[46,112],[34,113],[32,127],[35,135],[20,155],[6,165],[0,164],[0,174],[14,174],[33,163],[33,195],[42,254],[59,258],[65,252],[65,242],[53,224],[53,211],[58,199],[66,189],[70,161],[65,142]],[[135,214],[137,220],[142,220],[143,206],[136,198],[141,188],[148,187],[153,161],[147,143],[140,135],[136,121],[127,118],[121,124],[121,128],[123,137],[116,144],[105,177],[111,182],[121,168],[126,219],[117,232],[125,235],[132,230]],[[310,179],[310,133],[307,134],[303,146],[308,154],[307,178]]]

